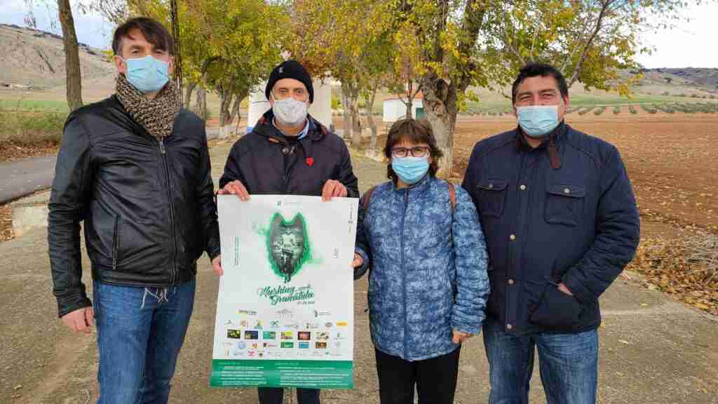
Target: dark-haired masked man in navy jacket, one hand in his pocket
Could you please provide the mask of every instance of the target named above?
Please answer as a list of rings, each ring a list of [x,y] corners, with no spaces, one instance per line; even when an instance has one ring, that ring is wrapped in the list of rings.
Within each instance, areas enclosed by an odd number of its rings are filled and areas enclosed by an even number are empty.
[[[595,403],[598,299],[638,246],[635,196],[616,148],[564,123],[556,68],[526,65],[512,100],[518,127],[476,144],[463,183],[490,259],[490,403],[528,403],[536,348],[549,403]]]

